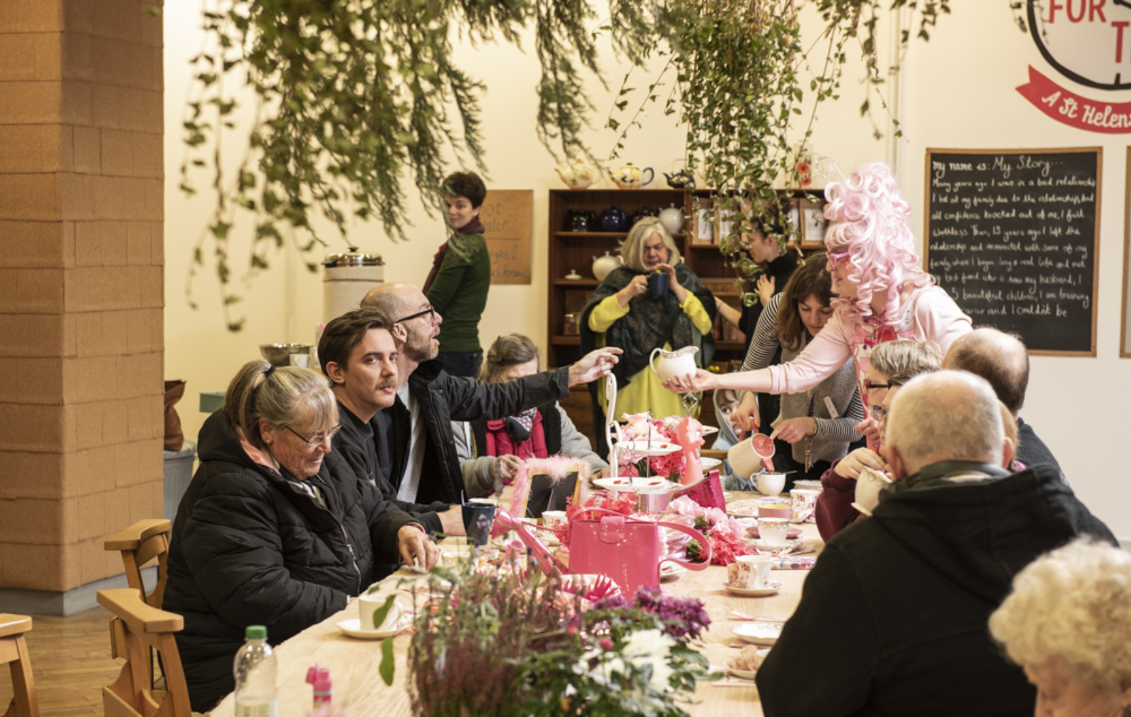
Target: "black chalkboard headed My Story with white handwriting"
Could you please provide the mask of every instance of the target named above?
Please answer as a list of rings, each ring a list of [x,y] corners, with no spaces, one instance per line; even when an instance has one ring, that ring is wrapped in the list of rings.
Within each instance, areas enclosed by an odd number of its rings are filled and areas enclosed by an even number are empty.
[[[1030,354],[1096,355],[1098,147],[927,149],[926,269]]]

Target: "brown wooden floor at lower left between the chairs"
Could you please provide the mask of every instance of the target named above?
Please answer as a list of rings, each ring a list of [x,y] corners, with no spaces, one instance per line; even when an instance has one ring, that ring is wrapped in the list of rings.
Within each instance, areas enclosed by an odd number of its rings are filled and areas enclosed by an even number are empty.
[[[102,688],[118,676],[110,657],[110,611],[95,607],[69,617],[32,615],[27,649],[43,717],[102,715]],[[11,680],[0,668],[0,714],[11,700]]]

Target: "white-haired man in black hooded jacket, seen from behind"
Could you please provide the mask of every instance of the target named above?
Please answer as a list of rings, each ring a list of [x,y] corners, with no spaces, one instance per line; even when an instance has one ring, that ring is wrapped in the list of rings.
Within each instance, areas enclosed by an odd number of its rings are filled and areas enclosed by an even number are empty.
[[[965,371],[912,379],[881,452],[871,518],[821,552],[758,671],[767,717],[1031,715],[1036,691],[986,630],[1016,576],[1081,535],[1116,544],[1047,464],[1019,473],[993,389]]]

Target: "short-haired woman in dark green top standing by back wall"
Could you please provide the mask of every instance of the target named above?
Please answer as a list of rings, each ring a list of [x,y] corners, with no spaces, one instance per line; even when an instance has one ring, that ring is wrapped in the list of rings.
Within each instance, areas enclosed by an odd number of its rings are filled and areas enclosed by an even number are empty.
[[[443,192],[454,233],[435,252],[424,294],[443,317],[439,337],[443,370],[475,378],[483,362],[480,317],[491,287],[491,254],[480,222],[487,190],[478,174],[456,172],[443,180]]]

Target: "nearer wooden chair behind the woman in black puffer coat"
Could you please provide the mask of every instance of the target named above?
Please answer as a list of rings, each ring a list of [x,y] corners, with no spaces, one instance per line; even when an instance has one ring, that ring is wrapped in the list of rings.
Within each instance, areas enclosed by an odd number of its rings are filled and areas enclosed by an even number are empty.
[[[98,604],[115,615],[110,621],[111,653],[126,658],[118,680],[102,689],[105,717],[191,717],[189,688],[173,638],[184,629],[184,619],[146,604],[133,588],[98,590]],[[161,655],[165,667],[163,696],[154,693],[149,681],[150,649]]]

